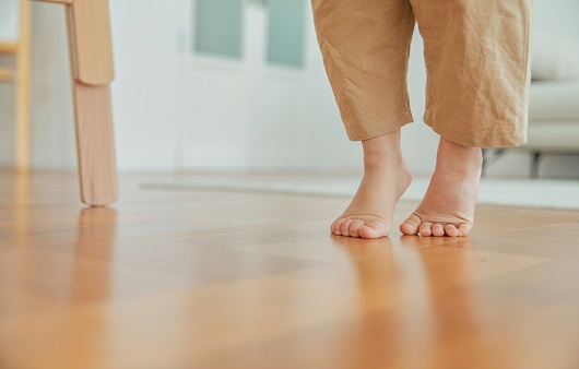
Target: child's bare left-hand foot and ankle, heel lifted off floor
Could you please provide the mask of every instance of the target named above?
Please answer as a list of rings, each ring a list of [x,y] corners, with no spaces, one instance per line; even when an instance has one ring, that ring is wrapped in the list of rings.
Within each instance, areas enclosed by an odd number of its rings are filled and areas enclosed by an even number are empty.
[[[362,238],[387,236],[398,199],[412,180],[402,158],[400,130],[363,141],[364,178],[342,216],[330,226],[332,234]]]

